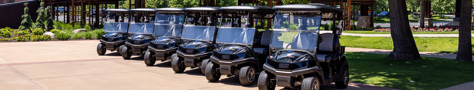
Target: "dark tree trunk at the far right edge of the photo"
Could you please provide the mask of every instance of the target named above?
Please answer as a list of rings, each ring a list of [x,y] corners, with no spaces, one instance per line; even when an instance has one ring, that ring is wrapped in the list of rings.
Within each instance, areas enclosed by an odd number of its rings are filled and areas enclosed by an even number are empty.
[[[461,0],[461,17],[459,21],[459,46],[457,61],[473,61],[471,42],[471,8],[472,0]]]

